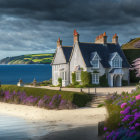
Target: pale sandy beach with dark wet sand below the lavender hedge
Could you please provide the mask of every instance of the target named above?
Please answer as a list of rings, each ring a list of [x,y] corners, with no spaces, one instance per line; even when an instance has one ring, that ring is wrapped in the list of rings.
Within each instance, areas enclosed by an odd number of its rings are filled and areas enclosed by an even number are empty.
[[[98,122],[105,120],[106,109],[80,108],[73,110],[46,110],[42,108],[0,103],[0,113],[22,117],[33,123],[48,125],[46,136],[37,139],[57,140],[98,139]],[[75,130],[77,133],[75,133]],[[85,137],[87,137],[85,139]]]

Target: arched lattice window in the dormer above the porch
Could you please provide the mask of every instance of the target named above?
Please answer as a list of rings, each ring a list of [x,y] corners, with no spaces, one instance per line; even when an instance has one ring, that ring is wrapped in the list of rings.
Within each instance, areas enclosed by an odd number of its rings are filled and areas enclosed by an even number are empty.
[[[120,68],[122,67],[122,60],[118,55],[115,56],[115,58],[112,60],[112,67],[113,68]]]

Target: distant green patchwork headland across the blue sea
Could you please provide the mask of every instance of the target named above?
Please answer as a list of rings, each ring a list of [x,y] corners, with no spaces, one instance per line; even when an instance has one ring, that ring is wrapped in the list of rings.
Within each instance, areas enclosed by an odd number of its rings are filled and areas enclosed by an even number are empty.
[[[50,64],[54,54],[31,54],[15,57],[6,57],[0,60],[0,64]]]

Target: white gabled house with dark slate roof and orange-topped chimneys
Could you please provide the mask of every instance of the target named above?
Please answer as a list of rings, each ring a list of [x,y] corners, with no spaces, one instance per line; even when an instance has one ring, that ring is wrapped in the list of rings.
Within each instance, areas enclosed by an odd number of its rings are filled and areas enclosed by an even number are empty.
[[[112,42],[107,42],[106,33],[96,37],[94,43],[79,41],[76,30],[73,33],[73,46],[63,46],[57,41],[56,53],[52,62],[52,84],[57,86],[62,78],[62,86],[72,83],[72,73],[81,83],[81,71],[90,72],[92,84],[99,84],[100,77],[106,75],[110,87],[121,87],[122,81],[129,83],[129,64],[115,34]]]

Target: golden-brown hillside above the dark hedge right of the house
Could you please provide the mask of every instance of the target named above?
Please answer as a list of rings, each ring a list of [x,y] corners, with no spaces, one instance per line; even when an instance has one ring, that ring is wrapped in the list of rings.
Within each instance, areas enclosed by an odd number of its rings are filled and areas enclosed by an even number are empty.
[[[140,49],[140,38],[131,39],[128,43],[122,45],[122,49]]]

